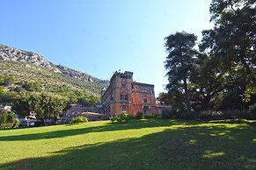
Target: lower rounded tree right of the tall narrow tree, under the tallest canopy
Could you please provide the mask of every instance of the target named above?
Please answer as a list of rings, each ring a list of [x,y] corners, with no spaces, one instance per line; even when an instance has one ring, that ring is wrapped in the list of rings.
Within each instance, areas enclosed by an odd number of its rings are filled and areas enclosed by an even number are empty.
[[[194,59],[195,69],[191,74],[189,89],[192,94],[194,110],[210,110],[210,102],[219,92],[234,86],[230,74],[222,72],[219,61],[205,53]]]

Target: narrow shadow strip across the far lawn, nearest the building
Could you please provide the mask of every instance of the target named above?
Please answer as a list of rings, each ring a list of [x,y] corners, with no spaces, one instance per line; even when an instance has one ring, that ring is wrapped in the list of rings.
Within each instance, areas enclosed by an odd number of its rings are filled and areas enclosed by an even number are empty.
[[[0,141],[14,141],[14,140],[38,140],[38,139],[48,139],[48,138],[63,138],[74,135],[81,135],[90,132],[102,132],[102,131],[121,131],[121,130],[132,130],[132,129],[142,129],[150,127],[159,126],[170,126],[175,124],[196,124],[194,121],[181,121],[181,120],[163,120],[163,119],[143,119],[143,120],[131,120],[127,124],[105,124],[101,126],[84,127],[77,129],[68,129],[58,131],[58,126],[56,126],[56,131],[40,132],[33,134],[22,134],[22,135],[12,135],[0,137]],[[69,126],[70,124],[67,124]]]

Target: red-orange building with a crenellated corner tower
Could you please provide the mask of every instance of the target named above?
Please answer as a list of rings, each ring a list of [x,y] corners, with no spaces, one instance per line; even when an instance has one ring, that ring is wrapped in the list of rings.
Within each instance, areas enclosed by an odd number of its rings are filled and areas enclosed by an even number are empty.
[[[113,74],[108,88],[101,93],[101,104],[106,117],[121,111],[133,115],[158,112],[154,85],[133,81],[133,73],[128,71]]]

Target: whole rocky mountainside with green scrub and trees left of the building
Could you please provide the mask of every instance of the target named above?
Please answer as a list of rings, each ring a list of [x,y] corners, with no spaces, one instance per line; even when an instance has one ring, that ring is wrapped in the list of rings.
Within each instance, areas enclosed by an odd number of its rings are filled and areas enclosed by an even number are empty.
[[[0,44],[0,105],[11,104],[19,94],[35,92],[67,96],[69,103],[93,105],[99,103],[100,91],[108,83],[55,65],[38,53]]]

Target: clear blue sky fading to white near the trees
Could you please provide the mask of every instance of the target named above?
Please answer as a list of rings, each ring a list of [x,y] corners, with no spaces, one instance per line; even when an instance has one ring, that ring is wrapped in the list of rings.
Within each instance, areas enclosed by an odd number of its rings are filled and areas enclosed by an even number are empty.
[[[165,37],[190,32],[201,39],[210,0],[1,1],[0,44],[39,53],[62,66],[109,80],[134,81],[165,92]]]

